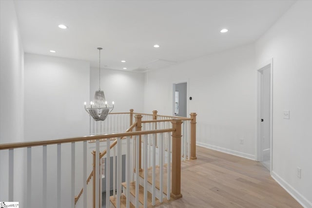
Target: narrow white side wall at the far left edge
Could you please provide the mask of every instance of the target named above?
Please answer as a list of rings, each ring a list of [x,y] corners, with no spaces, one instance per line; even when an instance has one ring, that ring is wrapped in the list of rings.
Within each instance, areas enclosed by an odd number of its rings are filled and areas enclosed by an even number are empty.
[[[24,140],[24,51],[13,1],[0,1],[0,143]],[[8,151],[0,153],[0,201],[8,200]],[[23,203],[23,150],[14,152],[14,200]]]

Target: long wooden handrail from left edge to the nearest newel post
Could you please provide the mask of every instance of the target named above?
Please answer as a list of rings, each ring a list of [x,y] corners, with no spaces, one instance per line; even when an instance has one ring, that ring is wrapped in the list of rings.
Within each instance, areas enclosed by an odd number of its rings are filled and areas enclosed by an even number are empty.
[[[136,135],[145,135],[152,133],[165,133],[165,132],[174,132],[175,129],[160,129],[160,130],[150,130],[150,131],[141,131],[141,132],[124,132],[124,133],[111,133],[111,134],[102,134],[102,135],[94,135],[94,136],[83,136],[83,137],[73,137],[67,139],[56,139],[56,140],[45,140],[45,141],[34,141],[34,142],[16,142],[16,143],[7,143],[1,144],[0,150],[8,150],[15,148],[24,148],[24,147],[36,147],[43,145],[52,145],[52,144],[62,144],[62,143],[70,143],[70,142],[81,142],[88,140],[96,140],[96,139],[108,139],[114,137],[126,137],[126,136],[136,136]]]

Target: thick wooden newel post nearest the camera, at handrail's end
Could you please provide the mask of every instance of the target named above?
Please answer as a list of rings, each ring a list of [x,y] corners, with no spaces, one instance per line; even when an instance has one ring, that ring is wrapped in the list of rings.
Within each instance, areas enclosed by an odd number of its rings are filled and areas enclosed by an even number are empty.
[[[171,121],[172,128],[176,129],[172,133],[172,184],[171,197],[179,199],[181,194],[181,124],[179,119]]]

